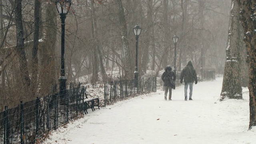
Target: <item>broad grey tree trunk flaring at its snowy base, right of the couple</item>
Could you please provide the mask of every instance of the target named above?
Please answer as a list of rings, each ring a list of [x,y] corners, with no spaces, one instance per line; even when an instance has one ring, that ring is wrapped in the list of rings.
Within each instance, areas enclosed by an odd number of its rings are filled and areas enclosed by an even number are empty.
[[[222,83],[220,101],[224,98],[242,99],[242,87],[240,83],[240,41],[239,33],[239,7],[236,0],[232,0],[232,9],[230,11],[230,21],[228,30],[228,47],[226,49],[226,63]]]

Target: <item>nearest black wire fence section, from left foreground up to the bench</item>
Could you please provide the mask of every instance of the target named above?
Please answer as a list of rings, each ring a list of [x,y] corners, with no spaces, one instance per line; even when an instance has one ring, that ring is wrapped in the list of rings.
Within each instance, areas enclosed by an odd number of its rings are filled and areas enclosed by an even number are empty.
[[[71,86],[70,86],[71,87]],[[80,86],[66,94],[48,94],[0,112],[0,144],[39,143],[52,129],[83,112]]]

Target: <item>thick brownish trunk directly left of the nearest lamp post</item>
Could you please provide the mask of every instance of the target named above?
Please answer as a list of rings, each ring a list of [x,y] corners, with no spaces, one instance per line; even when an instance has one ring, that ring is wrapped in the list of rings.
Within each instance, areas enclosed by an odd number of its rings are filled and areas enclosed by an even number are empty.
[[[56,63],[56,40],[57,40],[57,14],[56,7],[52,4],[46,6],[45,39],[40,50],[40,63],[42,64],[39,73],[40,94],[47,94],[52,84],[58,82],[56,65],[60,67],[60,61]],[[59,47],[60,48],[60,47]],[[60,57],[60,56],[59,56]],[[60,59],[59,59],[60,60]]]

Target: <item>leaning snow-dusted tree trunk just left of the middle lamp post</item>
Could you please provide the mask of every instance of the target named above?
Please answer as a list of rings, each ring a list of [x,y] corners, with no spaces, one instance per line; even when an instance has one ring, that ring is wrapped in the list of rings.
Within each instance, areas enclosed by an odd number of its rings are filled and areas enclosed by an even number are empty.
[[[121,0],[116,0],[118,6],[118,18],[120,23],[120,29],[122,32],[122,48],[124,51],[124,79],[131,79],[131,58],[130,58],[130,47],[127,39],[127,27],[126,20],[124,18],[124,8]]]

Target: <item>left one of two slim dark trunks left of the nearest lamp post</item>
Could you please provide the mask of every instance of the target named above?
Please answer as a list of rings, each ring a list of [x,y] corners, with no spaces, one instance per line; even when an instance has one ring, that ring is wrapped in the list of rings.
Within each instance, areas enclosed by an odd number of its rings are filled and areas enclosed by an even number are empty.
[[[24,32],[22,22],[22,0],[15,0],[15,20],[16,20],[16,51],[20,62],[20,74],[22,75],[23,83],[26,88],[30,86],[30,76],[28,74],[28,64],[24,49]]]

